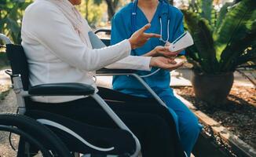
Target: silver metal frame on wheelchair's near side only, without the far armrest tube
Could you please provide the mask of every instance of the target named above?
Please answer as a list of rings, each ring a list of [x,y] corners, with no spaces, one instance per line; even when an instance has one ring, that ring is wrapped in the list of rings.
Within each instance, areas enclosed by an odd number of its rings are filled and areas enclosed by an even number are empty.
[[[11,40],[7,36],[5,36],[5,35],[0,34],[0,39],[5,42],[5,45],[13,44],[11,42]],[[29,92],[24,90],[24,88],[23,88],[23,84],[22,84],[22,80],[21,80],[21,75],[13,75],[10,71],[5,71],[5,72],[8,75],[11,76],[11,79],[12,79],[12,82],[13,82],[13,91],[16,93],[16,102],[18,104],[18,112],[17,112],[17,114],[24,115],[24,113],[26,111],[26,106],[25,106],[25,101],[24,101],[25,97],[61,96],[60,94],[56,94],[56,95],[55,94],[45,94],[45,95],[42,95],[42,94],[29,94]],[[45,85],[47,85],[47,84],[45,84]],[[69,95],[69,96],[71,96],[71,95]],[[136,144],[136,150],[133,153],[133,155],[131,155],[131,157],[138,156],[139,153],[141,152],[141,144],[140,144],[140,141],[137,139],[137,137],[126,126],[126,124],[121,119],[119,119],[119,116],[116,115],[114,111],[112,111],[112,108],[110,108],[108,106],[108,104],[97,93],[93,93],[93,94],[90,94],[88,96],[89,97],[93,97],[93,99],[96,100],[97,103],[101,105],[101,108],[103,108],[104,111],[107,112],[107,114],[111,117],[111,119],[115,122],[115,124],[117,126],[119,126],[120,129],[126,130],[129,133],[131,133],[131,135],[133,136],[133,139],[135,141],[135,144]],[[97,151],[107,152],[107,151],[111,151],[112,149],[114,149],[113,147],[112,148],[99,148],[97,146],[94,146],[93,144],[90,144],[89,142],[87,142],[84,139],[82,139],[82,137],[80,137],[75,132],[70,132],[70,130],[67,130],[67,128],[65,126],[63,126],[63,125],[61,125],[61,124],[59,124],[57,122],[49,122],[49,120],[46,120],[46,119],[38,119],[38,122],[40,122],[40,123],[42,123],[44,125],[47,125],[47,126],[57,127],[60,130],[64,130],[65,132],[70,133],[72,136],[74,136],[77,139],[79,139],[79,141],[82,141],[83,144],[86,144],[88,147],[93,148],[93,149],[95,149]]]

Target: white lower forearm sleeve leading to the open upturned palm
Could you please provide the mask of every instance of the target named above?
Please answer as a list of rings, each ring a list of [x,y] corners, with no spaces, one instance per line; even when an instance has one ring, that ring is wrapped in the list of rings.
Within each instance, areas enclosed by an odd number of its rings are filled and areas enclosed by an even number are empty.
[[[141,71],[150,71],[151,57],[138,57],[138,56],[129,56],[125,57],[123,60],[119,60],[114,64],[108,65],[106,68],[116,68],[116,69],[133,69]]]

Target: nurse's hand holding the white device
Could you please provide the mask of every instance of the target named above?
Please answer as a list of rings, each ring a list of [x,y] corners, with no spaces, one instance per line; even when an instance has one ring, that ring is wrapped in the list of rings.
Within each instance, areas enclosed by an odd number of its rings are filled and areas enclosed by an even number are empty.
[[[179,53],[181,53],[183,49],[171,52],[167,46],[156,46],[155,49],[152,49],[149,53],[144,54],[146,57],[177,57]]]

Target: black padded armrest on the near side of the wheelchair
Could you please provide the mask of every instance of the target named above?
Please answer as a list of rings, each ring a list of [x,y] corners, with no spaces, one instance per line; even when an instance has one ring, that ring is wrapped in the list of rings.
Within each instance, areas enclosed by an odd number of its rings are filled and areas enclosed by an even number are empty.
[[[42,84],[28,89],[32,96],[86,96],[94,91],[93,86],[74,82]]]

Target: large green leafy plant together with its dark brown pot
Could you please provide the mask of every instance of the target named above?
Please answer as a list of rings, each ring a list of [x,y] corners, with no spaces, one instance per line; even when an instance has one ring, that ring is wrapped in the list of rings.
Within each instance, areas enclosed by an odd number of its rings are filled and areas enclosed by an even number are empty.
[[[237,66],[256,58],[256,1],[226,3],[216,10],[212,0],[201,0],[183,13],[195,42],[187,58],[196,97],[219,104],[232,88]]]

